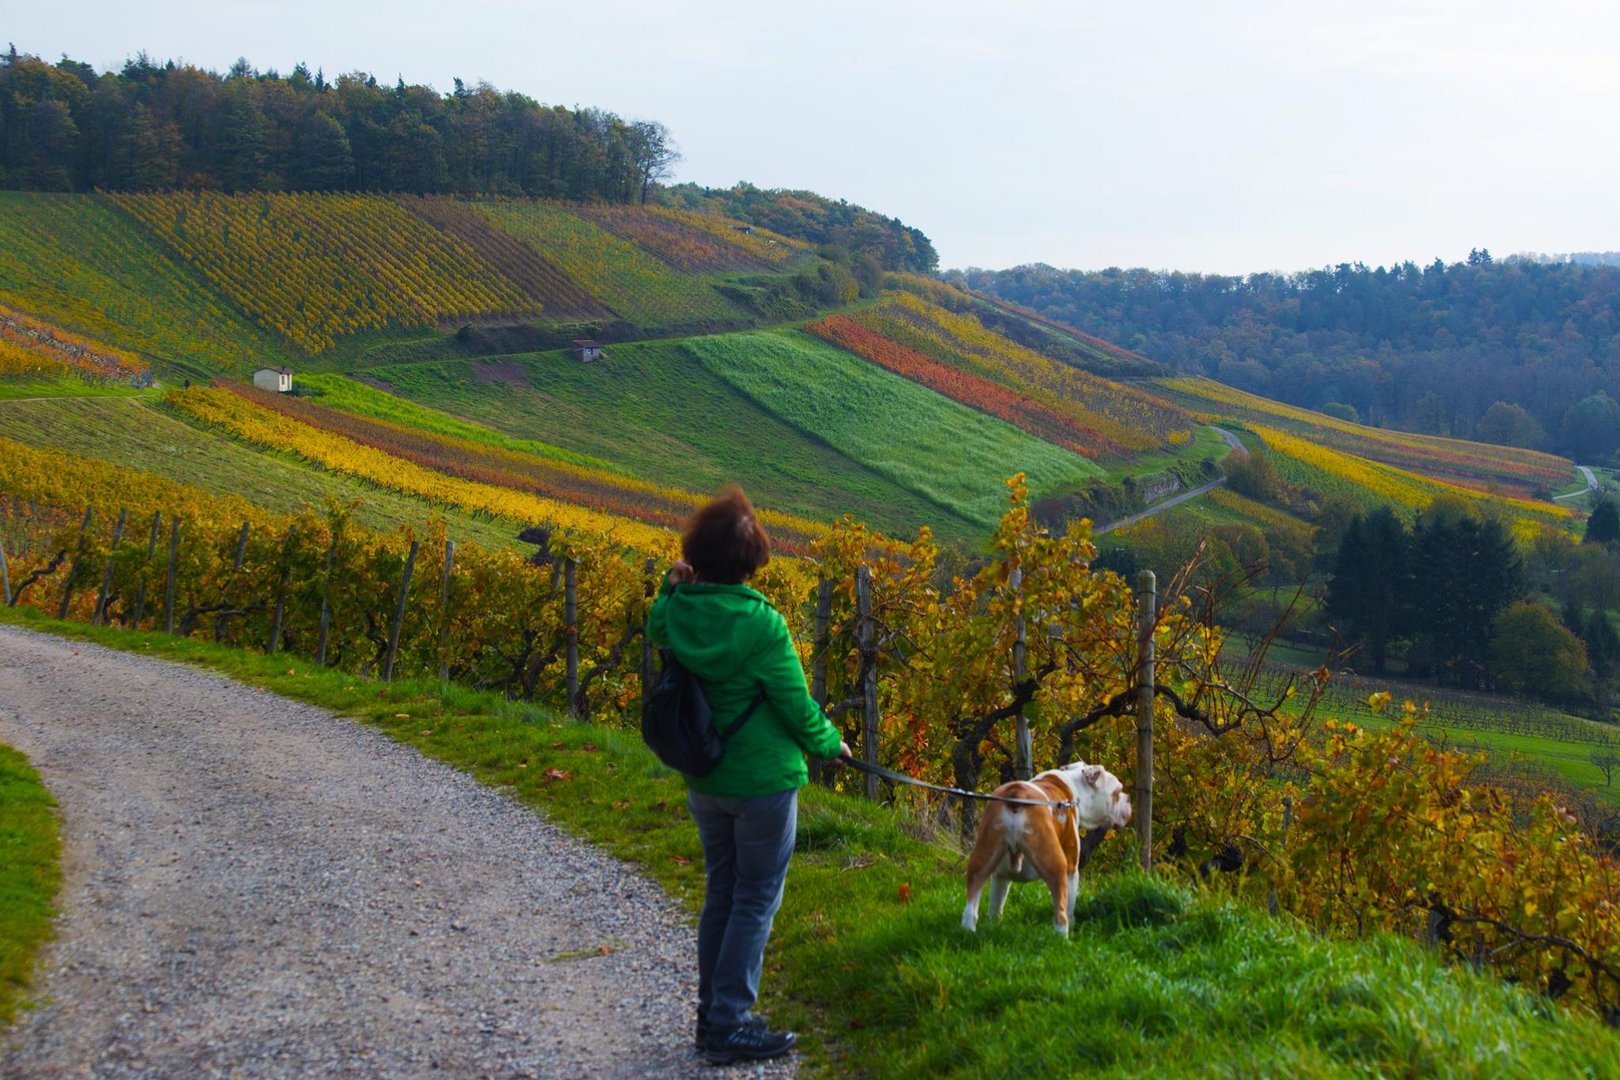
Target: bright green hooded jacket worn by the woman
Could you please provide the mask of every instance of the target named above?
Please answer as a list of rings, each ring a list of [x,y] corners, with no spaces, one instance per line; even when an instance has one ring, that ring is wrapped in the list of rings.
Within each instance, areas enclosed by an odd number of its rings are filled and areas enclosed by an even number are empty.
[[[726,742],[719,766],[687,777],[692,790],[731,798],[776,795],[810,779],[805,755],[838,756],[842,737],[805,687],[787,622],[747,585],[671,585],[666,578],[646,617],[646,635],[703,682],[718,729],[765,693],[748,722]]]

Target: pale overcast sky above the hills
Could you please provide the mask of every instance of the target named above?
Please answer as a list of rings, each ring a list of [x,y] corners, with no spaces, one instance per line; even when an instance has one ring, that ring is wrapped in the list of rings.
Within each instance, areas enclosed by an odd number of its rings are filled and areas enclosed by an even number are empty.
[[[943,267],[1205,272],[1620,249],[1620,5],[78,0],[45,60],[369,71],[663,121],[677,180],[810,188]]]

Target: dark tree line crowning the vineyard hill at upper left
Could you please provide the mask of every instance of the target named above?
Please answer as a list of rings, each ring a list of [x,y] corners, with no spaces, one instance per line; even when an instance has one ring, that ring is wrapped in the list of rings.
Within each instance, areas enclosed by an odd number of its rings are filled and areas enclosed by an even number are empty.
[[[146,53],[97,73],[0,53],[0,188],[23,191],[348,191],[531,196],[706,210],[831,244],[855,267],[933,272],[917,228],[842,199],[661,180],[680,159],[664,125],[543,105],[488,83],[441,94],[238,60],[225,74]],[[656,198],[654,198],[656,196]]]

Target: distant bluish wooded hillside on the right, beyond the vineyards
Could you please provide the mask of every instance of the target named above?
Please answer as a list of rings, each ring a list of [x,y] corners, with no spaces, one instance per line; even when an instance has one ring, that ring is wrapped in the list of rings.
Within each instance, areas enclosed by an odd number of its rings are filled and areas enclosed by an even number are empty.
[[[1492,259],[1223,277],[969,269],[967,285],[1189,374],[1366,423],[1620,450],[1620,267]]]

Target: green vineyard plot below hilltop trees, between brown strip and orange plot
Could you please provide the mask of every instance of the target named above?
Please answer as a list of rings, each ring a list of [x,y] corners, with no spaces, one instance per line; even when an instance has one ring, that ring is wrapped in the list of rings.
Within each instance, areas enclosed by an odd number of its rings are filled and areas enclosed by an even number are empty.
[[[505,233],[517,236],[577,285],[640,327],[745,319],[708,279],[682,274],[601,225],[548,202],[478,202]]]

